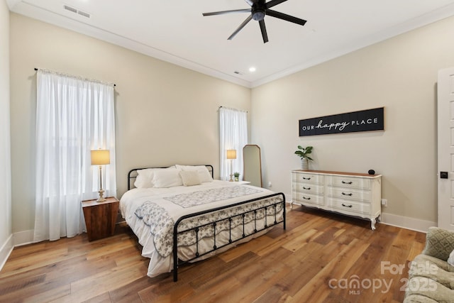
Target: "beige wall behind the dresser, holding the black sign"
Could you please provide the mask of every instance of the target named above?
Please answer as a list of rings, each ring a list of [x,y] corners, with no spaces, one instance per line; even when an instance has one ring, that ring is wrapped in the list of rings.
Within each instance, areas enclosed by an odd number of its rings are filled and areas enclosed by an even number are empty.
[[[454,66],[453,31],[449,18],[253,89],[264,184],[289,193],[294,150],[313,145],[311,168],[383,175],[384,217],[436,222],[436,82]],[[385,131],[299,138],[299,119],[382,106]]]

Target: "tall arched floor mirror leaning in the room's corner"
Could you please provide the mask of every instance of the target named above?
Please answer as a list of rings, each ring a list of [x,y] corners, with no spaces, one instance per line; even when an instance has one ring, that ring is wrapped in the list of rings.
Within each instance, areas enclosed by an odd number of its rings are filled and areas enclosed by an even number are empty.
[[[258,145],[245,145],[243,147],[243,180],[251,185],[262,187],[262,163],[260,147]]]

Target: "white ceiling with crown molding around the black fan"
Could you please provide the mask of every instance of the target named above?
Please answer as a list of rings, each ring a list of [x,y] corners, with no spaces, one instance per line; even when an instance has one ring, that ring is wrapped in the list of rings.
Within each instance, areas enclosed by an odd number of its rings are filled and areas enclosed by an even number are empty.
[[[15,13],[245,87],[454,16],[454,0],[288,0],[272,9],[307,20],[306,25],[265,16],[270,42],[264,44],[257,21],[227,40],[248,13],[202,16],[250,8],[244,0],[6,1]],[[251,66],[257,70],[249,72]]]

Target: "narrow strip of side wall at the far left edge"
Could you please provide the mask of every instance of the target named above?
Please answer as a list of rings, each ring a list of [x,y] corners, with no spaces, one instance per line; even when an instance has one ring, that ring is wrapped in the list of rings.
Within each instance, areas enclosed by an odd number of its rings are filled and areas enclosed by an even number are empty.
[[[9,10],[0,1],[0,268],[11,241],[11,173],[9,133]]]

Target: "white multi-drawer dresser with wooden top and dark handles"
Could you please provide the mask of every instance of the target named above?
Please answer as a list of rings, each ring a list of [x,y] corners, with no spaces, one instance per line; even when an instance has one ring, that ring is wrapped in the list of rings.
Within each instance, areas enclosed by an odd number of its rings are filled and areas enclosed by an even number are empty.
[[[375,230],[382,214],[382,175],[292,170],[292,206],[300,204],[370,219]]]

